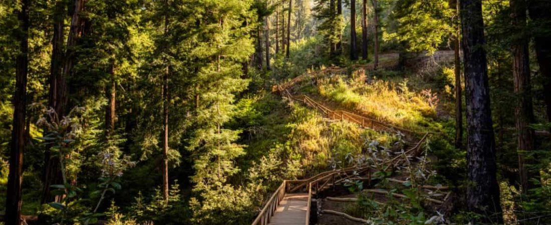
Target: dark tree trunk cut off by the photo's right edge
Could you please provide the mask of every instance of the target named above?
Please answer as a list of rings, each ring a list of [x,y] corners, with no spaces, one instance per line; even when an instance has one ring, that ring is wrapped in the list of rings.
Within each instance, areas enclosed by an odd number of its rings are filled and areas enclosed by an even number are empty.
[[[551,26],[551,2],[547,0],[528,0],[528,13],[534,28]],[[551,122],[551,32],[536,29],[533,32],[534,48],[539,65],[539,72],[544,77],[543,96],[547,106],[547,119]]]

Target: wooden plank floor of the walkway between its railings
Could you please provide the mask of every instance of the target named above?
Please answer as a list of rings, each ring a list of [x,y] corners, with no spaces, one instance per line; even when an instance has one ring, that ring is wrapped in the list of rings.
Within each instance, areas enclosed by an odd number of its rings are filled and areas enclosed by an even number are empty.
[[[285,194],[268,224],[304,225],[307,205],[308,193]]]

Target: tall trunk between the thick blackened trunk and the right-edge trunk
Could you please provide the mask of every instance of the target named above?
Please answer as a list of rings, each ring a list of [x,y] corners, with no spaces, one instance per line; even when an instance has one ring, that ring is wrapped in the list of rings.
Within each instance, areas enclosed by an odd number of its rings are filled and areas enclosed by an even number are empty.
[[[533,185],[528,182],[529,178],[537,177],[537,174],[529,173],[523,152],[533,150],[534,131],[528,127],[534,122],[532,107],[532,93],[530,84],[530,62],[528,56],[528,39],[526,37],[526,1],[510,0],[512,13],[511,21],[520,37],[513,40],[511,51],[513,54],[513,82],[515,84],[515,127],[517,130],[518,173],[523,193],[528,193]]]

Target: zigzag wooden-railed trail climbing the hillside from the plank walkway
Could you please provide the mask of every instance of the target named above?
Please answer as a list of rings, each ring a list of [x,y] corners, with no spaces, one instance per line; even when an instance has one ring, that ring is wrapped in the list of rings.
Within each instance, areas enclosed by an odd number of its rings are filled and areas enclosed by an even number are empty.
[[[436,56],[446,55],[449,51],[441,51],[437,53]],[[398,65],[398,54],[384,54],[381,55],[381,62],[379,63],[380,68],[394,68]],[[445,57],[437,57],[445,58]],[[372,64],[363,64],[363,65],[352,65],[352,68],[363,68],[365,70],[372,70]],[[283,97],[288,98],[289,101],[299,101],[304,103],[307,106],[315,108],[316,111],[321,112],[327,118],[333,120],[348,120],[349,122],[358,124],[362,128],[370,128],[380,131],[396,131],[399,130],[404,134],[412,136],[414,134],[423,134],[418,131],[413,131],[401,127],[397,127],[392,124],[387,124],[376,119],[360,116],[352,112],[343,111],[343,110],[332,110],[328,107],[322,105],[320,102],[312,100],[312,98],[306,95],[294,96],[289,92],[290,87],[293,87],[296,83],[304,80],[305,78],[316,77],[324,75],[327,72],[332,73],[342,73],[345,72],[347,68],[339,67],[329,67],[315,72],[305,73],[291,79],[290,81],[283,83],[281,85],[276,85],[273,87],[274,92],[279,92]],[[398,155],[394,158],[391,158],[386,162],[389,166],[392,167],[404,163],[404,155],[406,156],[417,156],[420,152],[422,144],[428,138],[430,133],[425,133],[423,138],[421,138],[415,146],[403,152],[403,154]],[[266,225],[266,224],[288,224],[288,225],[310,225],[310,215],[311,215],[311,202],[312,197],[315,196],[320,191],[323,191],[331,186],[336,186],[342,184],[345,180],[348,179],[363,179],[366,180],[369,185],[371,185],[371,173],[372,169],[368,166],[363,167],[348,167],[343,169],[337,169],[333,171],[326,171],[319,173],[314,177],[303,180],[283,180],[279,188],[274,192],[271,198],[266,202],[266,205],[262,208],[255,221],[252,222],[252,225]],[[359,178],[357,178],[360,176]],[[361,177],[364,176],[364,177]],[[365,177],[366,176],[366,177]],[[404,182],[401,180],[396,180],[395,182]],[[446,187],[447,188],[447,187]],[[385,190],[372,190],[374,193],[384,193]],[[448,193],[444,199],[450,195]],[[444,201],[434,200],[440,204]],[[339,213],[339,212],[337,212]],[[341,213],[344,214],[344,213]],[[345,215],[345,217],[348,215]],[[350,216],[348,216],[350,217]],[[360,219],[360,218],[356,218]]]

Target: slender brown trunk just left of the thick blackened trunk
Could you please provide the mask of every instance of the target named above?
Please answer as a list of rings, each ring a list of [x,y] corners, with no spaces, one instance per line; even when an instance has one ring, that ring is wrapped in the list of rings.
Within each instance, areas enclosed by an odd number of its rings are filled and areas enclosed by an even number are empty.
[[[450,0],[450,8],[455,9],[459,15],[459,0]],[[453,34],[453,72],[455,74],[455,148],[461,149],[463,146],[463,110],[461,95],[461,56],[460,56],[460,25],[458,24]]]

